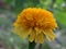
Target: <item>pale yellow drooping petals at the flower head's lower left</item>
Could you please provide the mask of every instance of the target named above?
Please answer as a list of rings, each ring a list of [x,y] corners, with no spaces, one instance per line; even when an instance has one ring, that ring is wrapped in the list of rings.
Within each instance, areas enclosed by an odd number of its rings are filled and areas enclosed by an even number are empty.
[[[23,29],[23,28],[15,27],[14,33],[16,33],[19,36],[23,38],[26,38],[30,34],[30,29]]]

